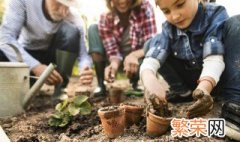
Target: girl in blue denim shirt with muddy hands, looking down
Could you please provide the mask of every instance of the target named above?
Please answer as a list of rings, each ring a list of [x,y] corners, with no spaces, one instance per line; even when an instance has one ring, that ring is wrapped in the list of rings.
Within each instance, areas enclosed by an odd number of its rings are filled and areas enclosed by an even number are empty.
[[[229,19],[224,7],[199,0],[156,0],[156,4],[167,21],[162,33],[145,44],[149,50],[140,76],[146,91],[162,102],[189,99],[192,94],[197,101],[187,110],[189,118],[212,109],[213,92],[225,100],[240,100],[239,16]],[[157,71],[170,92],[186,93],[166,95]]]

